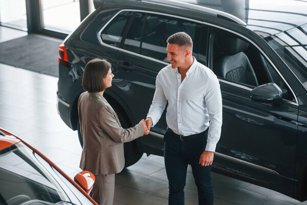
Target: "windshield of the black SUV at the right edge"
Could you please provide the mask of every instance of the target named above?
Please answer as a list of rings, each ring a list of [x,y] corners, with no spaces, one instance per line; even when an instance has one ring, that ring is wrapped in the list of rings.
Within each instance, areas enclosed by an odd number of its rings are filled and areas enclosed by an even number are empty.
[[[307,89],[307,24],[264,39]]]

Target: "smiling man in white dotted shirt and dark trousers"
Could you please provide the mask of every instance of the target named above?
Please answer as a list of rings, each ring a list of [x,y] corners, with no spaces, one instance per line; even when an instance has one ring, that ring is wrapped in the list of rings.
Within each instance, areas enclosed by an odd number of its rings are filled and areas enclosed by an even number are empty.
[[[192,39],[175,33],[167,39],[170,65],[157,75],[156,92],[146,118],[148,128],[159,121],[168,102],[164,135],[169,204],[184,204],[190,162],[199,204],[213,204],[211,165],[221,135],[222,95],[214,73],[192,56]],[[210,125],[210,126],[209,126]],[[149,132],[149,131],[148,131]]]

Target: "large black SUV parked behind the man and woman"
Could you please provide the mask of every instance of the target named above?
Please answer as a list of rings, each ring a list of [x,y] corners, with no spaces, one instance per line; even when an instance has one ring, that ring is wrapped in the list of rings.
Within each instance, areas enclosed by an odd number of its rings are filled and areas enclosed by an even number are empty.
[[[156,76],[169,63],[167,37],[185,31],[193,39],[193,56],[221,85],[223,127],[212,169],[304,200],[307,2],[221,2],[228,5],[94,0],[96,10],[59,47],[58,112],[79,131],[83,70],[101,57],[115,75],[104,95],[123,127],[134,126],[146,117]],[[142,153],[163,156],[165,131],[164,113],[149,135],[125,144],[126,166]],[[82,144],[80,132],[79,139]]]

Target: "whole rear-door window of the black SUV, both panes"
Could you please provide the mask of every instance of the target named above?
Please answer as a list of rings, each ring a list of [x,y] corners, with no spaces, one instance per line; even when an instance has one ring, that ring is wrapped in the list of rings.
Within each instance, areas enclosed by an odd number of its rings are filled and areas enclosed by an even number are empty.
[[[122,48],[168,62],[166,40],[170,35],[183,31],[191,36],[193,56],[198,59],[199,36],[202,26],[202,24],[179,17],[136,12],[128,28]],[[206,47],[206,45],[204,46]]]

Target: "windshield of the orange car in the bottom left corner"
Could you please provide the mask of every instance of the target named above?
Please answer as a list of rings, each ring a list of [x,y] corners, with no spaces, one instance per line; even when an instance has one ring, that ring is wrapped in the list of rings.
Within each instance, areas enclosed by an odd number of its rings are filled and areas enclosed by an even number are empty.
[[[19,142],[0,151],[0,204],[26,201],[93,204],[46,160]]]

